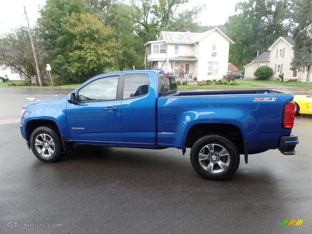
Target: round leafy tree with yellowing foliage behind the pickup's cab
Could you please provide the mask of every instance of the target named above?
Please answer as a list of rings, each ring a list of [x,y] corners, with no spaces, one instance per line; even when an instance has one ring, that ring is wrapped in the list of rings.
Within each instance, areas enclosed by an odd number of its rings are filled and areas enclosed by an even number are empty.
[[[121,45],[96,17],[73,12],[63,19],[62,29],[69,45],[54,62],[72,80],[85,81],[114,67]]]

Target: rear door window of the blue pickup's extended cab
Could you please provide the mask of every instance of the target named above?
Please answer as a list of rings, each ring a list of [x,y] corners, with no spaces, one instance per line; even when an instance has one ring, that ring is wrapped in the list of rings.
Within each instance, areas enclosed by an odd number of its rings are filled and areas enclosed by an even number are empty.
[[[147,74],[126,74],[124,76],[123,99],[146,95],[149,92]]]

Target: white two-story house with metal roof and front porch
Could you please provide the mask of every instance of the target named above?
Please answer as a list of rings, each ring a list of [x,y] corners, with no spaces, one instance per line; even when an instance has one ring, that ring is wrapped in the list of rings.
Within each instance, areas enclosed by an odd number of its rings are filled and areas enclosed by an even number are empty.
[[[203,33],[161,31],[157,41],[145,44],[145,68],[171,71],[177,80],[221,79],[230,44],[234,41],[218,28]]]

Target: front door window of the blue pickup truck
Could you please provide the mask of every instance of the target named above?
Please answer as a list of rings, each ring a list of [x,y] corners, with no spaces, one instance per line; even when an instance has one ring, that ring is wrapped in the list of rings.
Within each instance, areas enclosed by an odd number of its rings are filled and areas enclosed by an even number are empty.
[[[78,102],[114,100],[117,95],[119,76],[94,80],[78,91]]]

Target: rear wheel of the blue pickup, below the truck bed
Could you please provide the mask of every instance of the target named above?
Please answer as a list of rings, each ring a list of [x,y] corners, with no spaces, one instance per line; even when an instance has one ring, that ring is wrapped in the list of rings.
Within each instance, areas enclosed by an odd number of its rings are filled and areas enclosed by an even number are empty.
[[[232,176],[240,162],[234,142],[222,134],[208,134],[192,146],[190,160],[194,170],[209,180],[224,180]]]

